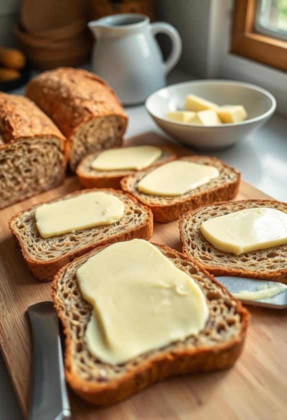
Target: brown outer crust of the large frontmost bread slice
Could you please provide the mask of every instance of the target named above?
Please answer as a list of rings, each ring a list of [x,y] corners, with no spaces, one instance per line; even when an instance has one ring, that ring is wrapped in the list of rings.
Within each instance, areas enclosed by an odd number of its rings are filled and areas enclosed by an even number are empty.
[[[183,258],[194,265],[194,263],[189,260],[186,255],[171,249],[166,245],[157,243],[154,243],[154,245],[167,253],[172,252],[179,258]],[[105,246],[97,249],[100,251],[104,248]],[[57,314],[64,327],[66,379],[73,391],[85,401],[96,406],[114,404],[155,382],[171,376],[196,372],[209,372],[231,367],[240,356],[250,321],[250,313],[239,300],[232,297],[233,300],[237,302],[236,310],[241,316],[241,331],[237,337],[234,337],[229,342],[202,348],[177,349],[173,352],[165,352],[163,350],[158,356],[145,360],[140,365],[136,365],[133,370],[126,373],[122,378],[112,380],[108,384],[105,382],[95,381],[91,383],[73,371],[71,334],[67,319],[62,313],[60,304],[56,298],[58,278],[68,266],[69,264],[62,267],[55,275],[52,283],[52,298]],[[205,269],[202,269],[202,271],[206,276],[212,278],[212,280],[219,285],[228,296],[231,296],[228,290],[216,281],[211,274],[209,274]]]

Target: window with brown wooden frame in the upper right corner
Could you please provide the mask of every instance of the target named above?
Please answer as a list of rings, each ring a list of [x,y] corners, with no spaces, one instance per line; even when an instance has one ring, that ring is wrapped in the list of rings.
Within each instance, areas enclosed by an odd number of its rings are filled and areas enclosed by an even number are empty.
[[[287,0],[235,0],[231,52],[287,71]]]

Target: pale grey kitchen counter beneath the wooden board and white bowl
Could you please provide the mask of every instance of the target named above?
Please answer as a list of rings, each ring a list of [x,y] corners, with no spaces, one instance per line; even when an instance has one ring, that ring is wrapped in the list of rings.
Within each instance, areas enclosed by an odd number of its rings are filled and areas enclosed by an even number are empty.
[[[174,82],[174,76],[171,82]],[[177,75],[177,81],[186,79]],[[20,93],[18,90],[16,93]],[[156,131],[165,135],[153,122],[144,106],[126,108],[129,125],[127,136],[144,131]],[[214,156],[236,166],[244,180],[266,194],[287,201],[287,118],[274,115],[259,131],[242,140],[233,148],[213,152]],[[19,420],[22,416],[15,399],[12,385],[0,354],[0,420]]]

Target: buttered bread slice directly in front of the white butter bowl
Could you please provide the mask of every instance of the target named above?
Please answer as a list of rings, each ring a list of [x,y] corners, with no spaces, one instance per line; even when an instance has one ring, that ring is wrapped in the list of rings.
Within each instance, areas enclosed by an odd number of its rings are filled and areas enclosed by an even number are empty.
[[[235,197],[239,182],[240,172],[216,157],[192,155],[125,176],[121,186],[152,210],[155,221],[169,222]]]

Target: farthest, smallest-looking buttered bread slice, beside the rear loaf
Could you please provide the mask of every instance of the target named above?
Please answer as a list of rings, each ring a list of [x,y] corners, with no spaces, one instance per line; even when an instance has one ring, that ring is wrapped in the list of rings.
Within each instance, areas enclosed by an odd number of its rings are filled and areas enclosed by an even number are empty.
[[[95,151],[85,156],[76,169],[87,188],[120,188],[120,180],[148,167],[156,167],[177,158],[171,147],[142,144]]]

